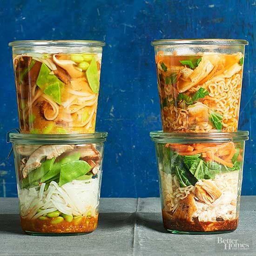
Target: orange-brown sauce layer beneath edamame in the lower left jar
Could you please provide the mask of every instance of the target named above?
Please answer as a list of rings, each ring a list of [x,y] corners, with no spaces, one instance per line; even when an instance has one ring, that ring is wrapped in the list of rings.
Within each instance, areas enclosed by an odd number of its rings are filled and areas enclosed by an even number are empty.
[[[20,217],[21,228],[24,231],[36,233],[89,233],[97,228],[98,216],[96,217],[79,217],[72,222],[63,220],[61,223],[52,223],[55,218],[46,220],[27,220]]]

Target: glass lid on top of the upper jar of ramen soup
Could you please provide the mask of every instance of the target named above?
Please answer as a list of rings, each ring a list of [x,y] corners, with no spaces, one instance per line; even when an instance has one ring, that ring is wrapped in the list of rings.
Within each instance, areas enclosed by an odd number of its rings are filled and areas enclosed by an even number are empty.
[[[192,44],[192,45],[248,45],[243,39],[163,39],[154,40],[152,46],[172,45],[172,44]]]

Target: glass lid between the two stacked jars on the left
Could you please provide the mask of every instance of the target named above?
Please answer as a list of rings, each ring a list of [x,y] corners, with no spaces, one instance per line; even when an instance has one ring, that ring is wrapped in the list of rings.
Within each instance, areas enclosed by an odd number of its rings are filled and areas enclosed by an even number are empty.
[[[7,142],[18,144],[86,144],[106,141],[107,132],[94,134],[21,134],[9,132]]]

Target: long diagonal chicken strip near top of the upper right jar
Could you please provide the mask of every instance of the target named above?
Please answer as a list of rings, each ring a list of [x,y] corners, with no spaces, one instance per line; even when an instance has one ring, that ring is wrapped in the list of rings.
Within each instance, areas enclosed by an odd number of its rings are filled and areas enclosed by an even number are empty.
[[[192,88],[193,86],[197,85],[200,81],[202,81],[205,77],[209,75],[209,73],[217,65],[218,61],[220,61],[220,57],[217,54],[203,55],[202,60],[200,61],[198,66],[188,77],[188,81],[179,83],[179,92],[183,93]]]

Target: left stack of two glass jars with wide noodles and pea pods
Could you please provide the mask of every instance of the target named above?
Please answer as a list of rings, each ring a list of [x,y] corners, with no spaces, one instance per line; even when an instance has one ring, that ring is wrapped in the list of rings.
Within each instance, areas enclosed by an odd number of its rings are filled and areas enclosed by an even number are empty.
[[[20,133],[13,143],[22,229],[94,231],[106,132],[95,132],[101,41],[14,41]]]

